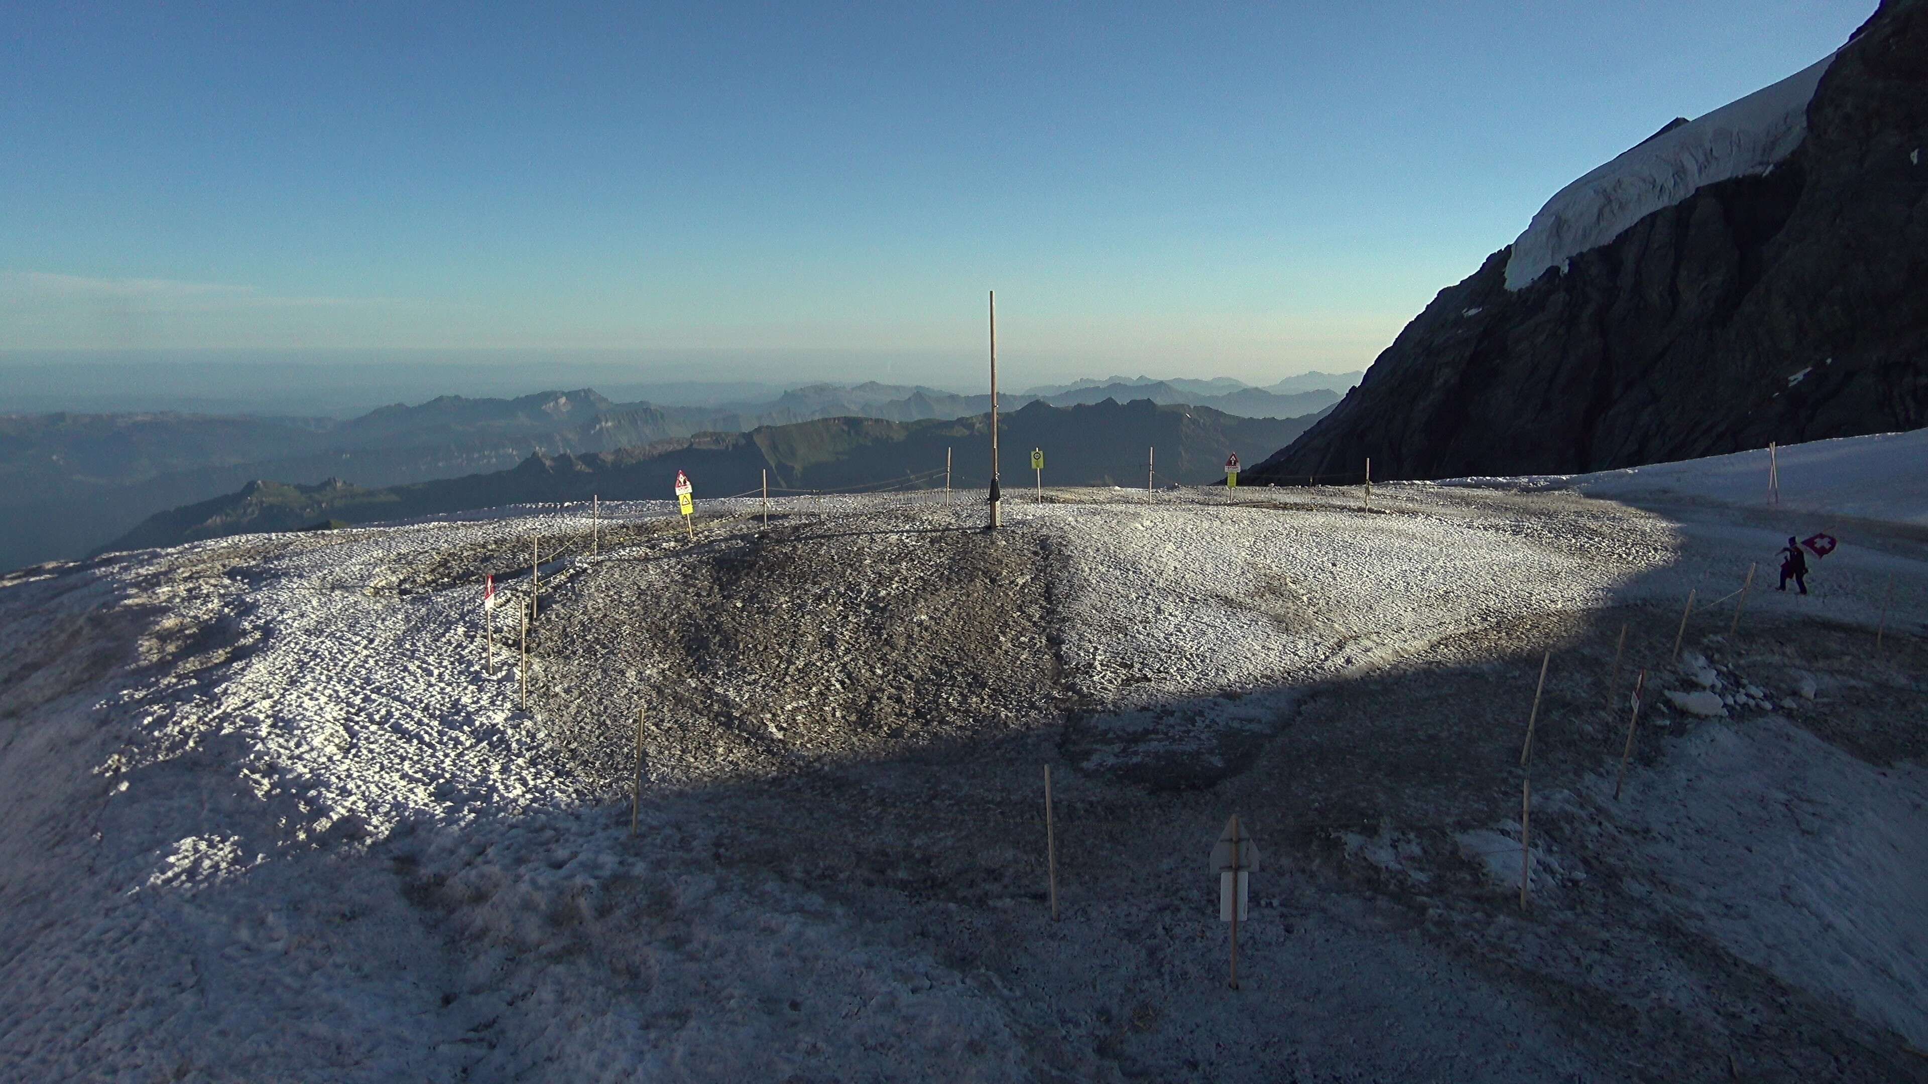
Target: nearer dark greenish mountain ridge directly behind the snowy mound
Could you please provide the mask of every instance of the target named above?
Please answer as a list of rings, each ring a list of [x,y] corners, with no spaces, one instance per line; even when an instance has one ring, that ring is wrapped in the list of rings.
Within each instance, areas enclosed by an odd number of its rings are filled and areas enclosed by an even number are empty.
[[[1157,447],[1159,484],[1213,482],[1228,453],[1255,455],[1290,442],[1315,419],[1242,419],[1209,407],[1151,399],[1053,407],[1041,401],[1001,413],[1004,484],[1014,498],[1031,484],[1030,449],[1045,449],[1053,486],[1145,484],[1145,453]],[[108,550],[174,546],[260,530],[303,530],[409,519],[532,501],[669,500],[677,471],[698,501],[756,490],[763,471],[779,490],[848,490],[889,484],[954,463],[954,486],[989,482],[989,415],[887,420],[835,417],[750,432],[702,434],[594,453],[536,453],[511,471],[368,488],[341,480],[285,484],[256,480],[239,492],[148,517]],[[925,482],[941,484],[939,482]]]

